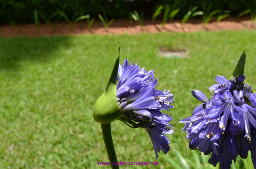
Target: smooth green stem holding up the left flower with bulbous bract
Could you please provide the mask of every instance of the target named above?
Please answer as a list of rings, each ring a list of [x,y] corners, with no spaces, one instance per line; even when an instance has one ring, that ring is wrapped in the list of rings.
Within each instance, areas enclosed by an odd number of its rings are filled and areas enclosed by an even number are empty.
[[[111,135],[111,127],[110,123],[107,124],[102,124],[101,123],[101,130],[102,130],[102,135],[103,135],[103,140],[105,143],[105,147],[109,156],[109,161],[110,164],[112,162],[117,162],[116,154],[115,154],[115,148],[112,140],[112,135]],[[112,169],[119,169],[118,165],[111,165]]]

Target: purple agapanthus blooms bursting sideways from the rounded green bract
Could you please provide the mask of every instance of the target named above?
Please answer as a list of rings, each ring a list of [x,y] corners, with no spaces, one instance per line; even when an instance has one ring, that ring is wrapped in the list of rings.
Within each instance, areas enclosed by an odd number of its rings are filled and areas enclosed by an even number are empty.
[[[154,71],[141,69],[133,62],[129,64],[128,59],[124,59],[123,66],[119,64],[118,75],[116,100],[121,111],[119,120],[130,127],[146,129],[156,158],[160,150],[167,153],[170,142],[163,133],[173,133],[173,127],[168,123],[172,117],[160,110],[173,108],[173,94],[168,93],[169,90],[155,90],[158,79],[154,79]]]

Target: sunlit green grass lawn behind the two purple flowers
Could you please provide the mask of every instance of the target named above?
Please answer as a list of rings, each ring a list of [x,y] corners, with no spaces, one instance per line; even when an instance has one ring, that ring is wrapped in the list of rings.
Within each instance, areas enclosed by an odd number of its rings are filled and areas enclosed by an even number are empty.
[[[0,168],[109,168],[100,124],[93,106],[105,90],[121,47],[127,58],[155,70],[157,89],[170,89],[174,134],[171,151],[159,154],[160,168],[175,168],[167,158],[176,152],[189,158],[192,150],[179,120],[200,104],[192,89],[204,92],[217,75],[229,78],[247,47],[246,81],[256,88],[256,31],[80,35],[0,39]],[[186,49],[188,58],[163,58],[160,48]],[[117,120],[111,124],[119,161],[157,161],[142,128]],[[199,156],[199,152],[197,153]],[[163,156],[167,157],[164,158]],[[158,166],[158,167],[159,167]],[[120,168],[148,168],[121,166]],[[196,167],[196,166],[195,166]]]

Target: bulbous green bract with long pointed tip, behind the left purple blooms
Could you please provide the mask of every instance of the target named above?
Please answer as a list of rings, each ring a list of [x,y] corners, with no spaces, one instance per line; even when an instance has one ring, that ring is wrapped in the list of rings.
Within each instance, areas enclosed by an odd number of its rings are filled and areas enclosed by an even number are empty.
[[[121,117],[116,101],[116,80],[119,67],[120,46],[118,48],[115,64],[111,72],[106,91],[98,98],[93,108],[93,119],[98,123],[111,123]]]

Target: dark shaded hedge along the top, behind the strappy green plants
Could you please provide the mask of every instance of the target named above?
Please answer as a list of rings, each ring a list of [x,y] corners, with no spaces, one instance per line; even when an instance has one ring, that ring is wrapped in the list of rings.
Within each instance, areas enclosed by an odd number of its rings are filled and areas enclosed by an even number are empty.
[[[89,14],[91,18],[97,18],[106,10],[108,19],[128,17],[129,11],[137,10],[143,12],[145,18],[152,18],[156,8],[162,4],[172,6],[175,0],[0,0],[0,24],[4,23],[34,23],[34,11],[41,11],[46,17],[56,12],[63,11],[69,18],[77,12],[80,16]],[[197,0],[180,0],[178,6],[181,8],[176,18],[184,16],[189,7],[198,6],[202,10],[202,2]],[[230,15],[237,16],[246,9],[256,10],[255,0],[212,0],[205,1],[206,6],[213,3],[211,11],[222,9],[230,10]],[[40,18],[40,17],[39,17]],[[64,20],[64,18],[62,18]],[[44,20],[41,18],[41,22]]]

